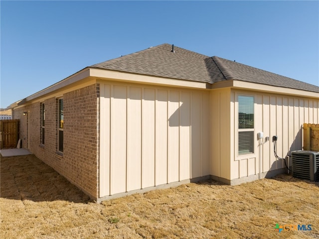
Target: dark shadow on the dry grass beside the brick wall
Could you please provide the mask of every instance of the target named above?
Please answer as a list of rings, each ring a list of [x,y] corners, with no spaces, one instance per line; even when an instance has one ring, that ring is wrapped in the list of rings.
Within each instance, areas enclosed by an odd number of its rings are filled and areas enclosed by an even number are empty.
[[[13,200],[88,203],[89,196],[34,155],[1,157],[0,195]]]

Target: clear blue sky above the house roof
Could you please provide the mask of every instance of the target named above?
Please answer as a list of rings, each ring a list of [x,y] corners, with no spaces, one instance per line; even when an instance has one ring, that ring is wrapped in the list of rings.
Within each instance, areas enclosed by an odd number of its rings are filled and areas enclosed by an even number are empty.
[[[319,1],[0,1],[5,108],[162,43],[319,85]]]

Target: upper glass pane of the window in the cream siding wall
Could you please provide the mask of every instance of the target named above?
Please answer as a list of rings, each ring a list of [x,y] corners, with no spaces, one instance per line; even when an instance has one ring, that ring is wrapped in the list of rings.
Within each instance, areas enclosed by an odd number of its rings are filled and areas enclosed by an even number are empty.
[[[238,96],[238,128],[254,128],[254,97]]]

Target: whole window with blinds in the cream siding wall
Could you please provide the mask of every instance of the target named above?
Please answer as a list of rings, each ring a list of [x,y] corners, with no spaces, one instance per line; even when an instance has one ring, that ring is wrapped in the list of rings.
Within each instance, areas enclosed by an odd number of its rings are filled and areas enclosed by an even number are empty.
[[[238,96],[238,155],[254,153],[254,97]]]

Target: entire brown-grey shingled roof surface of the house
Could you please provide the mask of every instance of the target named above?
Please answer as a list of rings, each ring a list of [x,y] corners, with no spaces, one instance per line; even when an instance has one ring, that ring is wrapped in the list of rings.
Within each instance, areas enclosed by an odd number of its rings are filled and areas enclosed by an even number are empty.
[[[270,86],[318,92],[319,87],[258,68],[209,57],[172,45],[161,44],[90,67],[214,84],[238,80]]]

